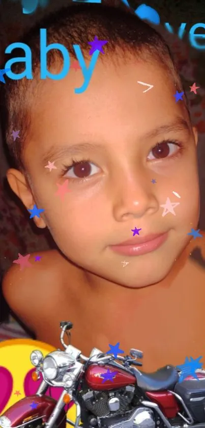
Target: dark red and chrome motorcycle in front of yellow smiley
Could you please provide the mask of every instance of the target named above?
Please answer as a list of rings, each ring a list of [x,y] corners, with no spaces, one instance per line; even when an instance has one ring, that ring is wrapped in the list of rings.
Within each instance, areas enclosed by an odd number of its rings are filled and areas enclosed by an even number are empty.
[[[142,366],[142,351],[130,349],[130,355],[116,358],[93,348],[89,357],[80,349],[66,345],[72,322],[60,323],[61,343],[43,357],[31,353],[35,366],[33,380],[43,378],[35,395],[25,397],[0,417],[1,428],[205,428],[205,372],[179,382],[180,372],[167,365],[154,373]],[[105,373],[109,373],[106,379]],[[58,398],[45,395],[49,387],[63,388]],[[34,406],[31,406],[35,403]],[[66,405],[76,405],[76,420],[71,421]]]

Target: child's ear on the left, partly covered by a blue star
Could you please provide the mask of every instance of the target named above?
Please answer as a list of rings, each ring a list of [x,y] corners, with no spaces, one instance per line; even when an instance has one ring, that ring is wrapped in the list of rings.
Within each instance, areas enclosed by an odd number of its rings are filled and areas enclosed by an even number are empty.
[[[35,200],[22,172],[14,168],[8,169],[7,180],[13,192],[22,200],[27,210],[32,210],[35,205]],[[38,228],[46,228],[46,224],[42,217],[35,216],[34,222]]]

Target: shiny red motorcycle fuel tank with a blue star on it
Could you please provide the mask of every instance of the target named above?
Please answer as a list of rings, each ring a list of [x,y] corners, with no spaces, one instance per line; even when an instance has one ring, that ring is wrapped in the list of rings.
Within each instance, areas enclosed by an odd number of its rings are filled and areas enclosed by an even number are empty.
[[[104,381],[101,374],[105,374],[109,369],[110,372],[116,372],[115,376],[111,380]],[[111,389],[122,388],[127,385],[136,383],[136,378],[132,374],[128,373],[123,368],[113,367],[109,364],[104,366],[98,366],[97,364],[91,364],[85,373],[85,380],[89,388],[95,391],[104,391]]]

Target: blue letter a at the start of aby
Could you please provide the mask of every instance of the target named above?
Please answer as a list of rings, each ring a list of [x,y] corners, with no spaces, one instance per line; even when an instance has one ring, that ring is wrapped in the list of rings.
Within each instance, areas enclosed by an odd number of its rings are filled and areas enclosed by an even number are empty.
[[[9,46],[7,46],[5,50],[5,54],[11,54],[13,49],[21,47],[24,49],[25,57],[19,57],[19,58],[11,58],[7,63],[5,64],[4,68],[11,68],[12,64],[15,64],[16,62],[23,62],[25,61],[25,70],[22,73],[15,74],[11,70],[7,71],[7,76],[12,80],[20,80],[26,77],[26,79],[33,79],[32,75],[32,52],[30,47],[25,43],[11,43]]]

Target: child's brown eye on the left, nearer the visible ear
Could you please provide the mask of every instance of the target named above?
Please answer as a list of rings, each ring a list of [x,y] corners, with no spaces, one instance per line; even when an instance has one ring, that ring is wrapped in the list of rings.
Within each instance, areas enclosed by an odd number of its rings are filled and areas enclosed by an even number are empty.
[[[83,179],[90,177],[90,175],[94,175],[99,172],[99,167],[90,161],[80,161],[74,162],[69,167],[66,168],[67,173],[66,177],[71,179]]]

